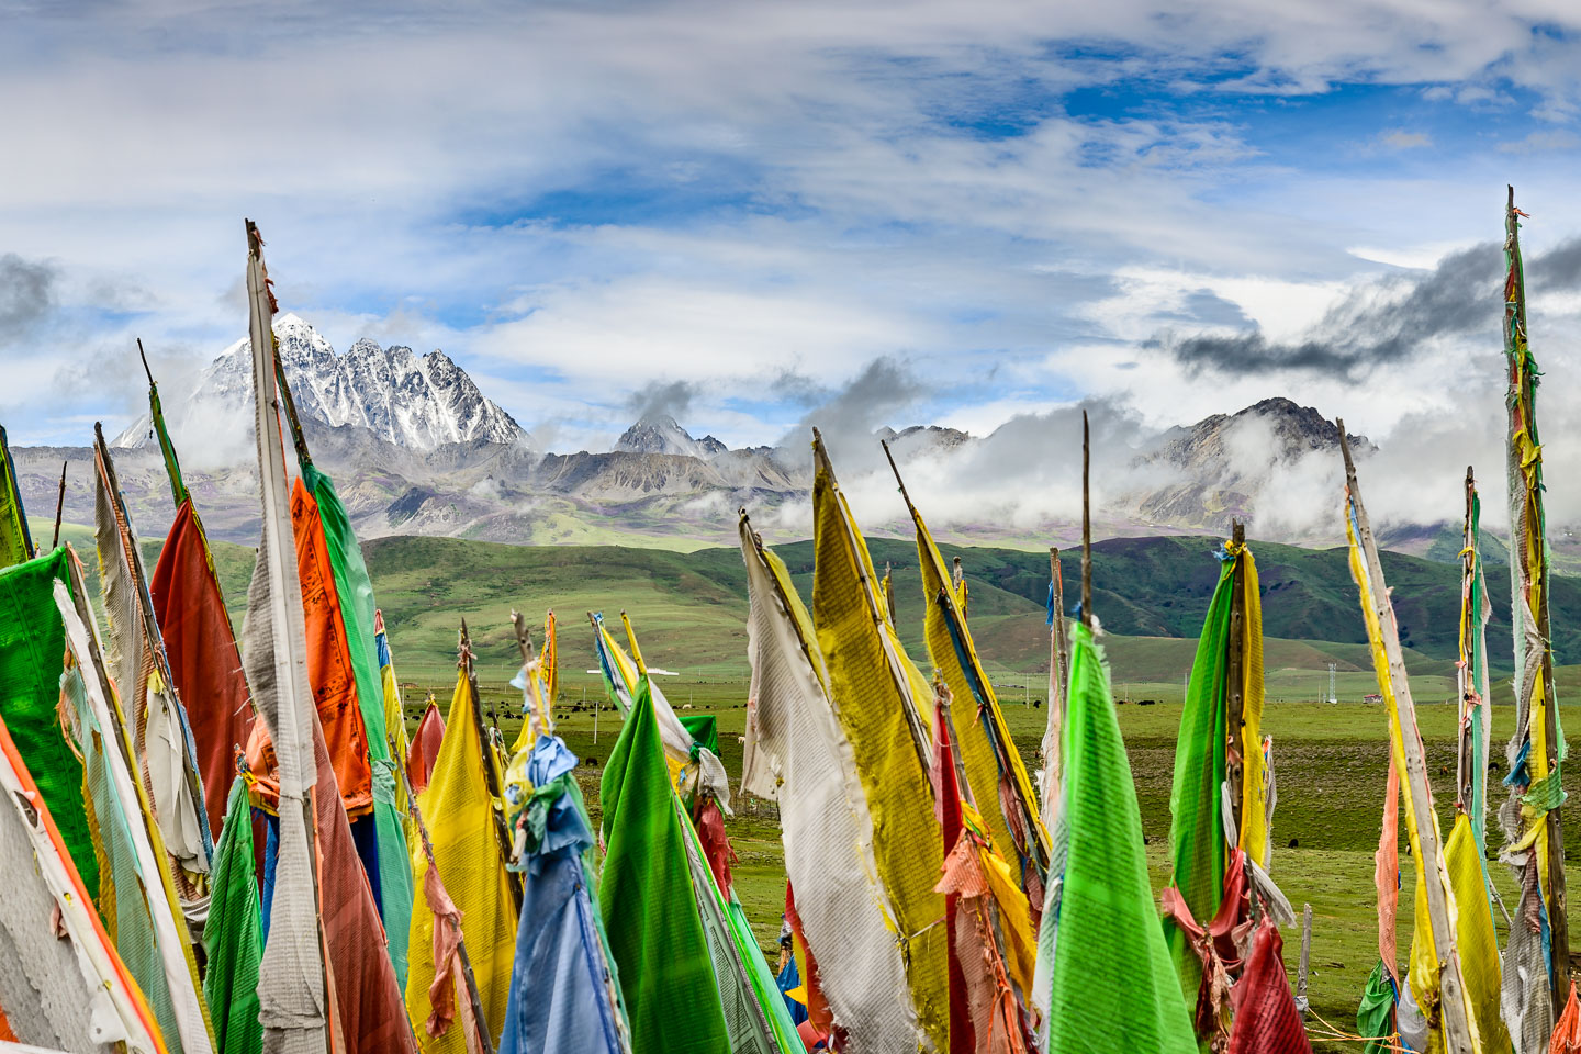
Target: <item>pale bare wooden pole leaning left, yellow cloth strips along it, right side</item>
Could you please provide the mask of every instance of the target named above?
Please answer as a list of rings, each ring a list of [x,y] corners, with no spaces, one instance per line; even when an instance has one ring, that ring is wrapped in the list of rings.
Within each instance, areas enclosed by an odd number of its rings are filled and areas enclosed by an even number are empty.
[[[1448,1054],[1472,1054],[1466,981],[1461,977],[1461,953],[1455,943],[1455,926],[1448,910],[1450,877],[1439,845],[1432,790],[1428,787],[1428,762],[1417,725],[1417,705],[1410,695],[1410,681],[1406,678],[1406,659],[1399,646],[1394,607],[1390,604],[1388,585],[1383,580],[1383,564],[1379,559],[1368,510],[1361,504],[1356,466],[1350,458],[1350,442],[1345,439],[1345,422],[1334,420],[1334,425],[1339,428],[1339,450],[1345,458],[1345,493],[1350,499],[1350,512],[1355,515],[1356,544],[1361,547],[1363,570],[1369,586],[1363,589],[1363,602],[1371,605],[1382,631],[1387,670],[1380,672],[1380,676],[1388,676],[1388,686],[1394,695],[1396,713],[1390,722],[1390,736],[1394,738],[1394,749],[1406,757],[1406,789],[1410,795],[1412,814],[1417,817],[1417,845],[1421,849],[1421,869],[1428,891],[1428,921],[1432,926],[1432,947],[1443,964],[1439,978],[1439,1007],[1443,1011],[1445,1051]]]

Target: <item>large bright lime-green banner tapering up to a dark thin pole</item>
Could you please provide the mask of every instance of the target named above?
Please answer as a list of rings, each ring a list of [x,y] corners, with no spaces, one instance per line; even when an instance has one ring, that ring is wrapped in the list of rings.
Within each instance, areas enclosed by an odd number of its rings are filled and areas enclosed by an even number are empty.
[[[1053,943],[1048,1049],[1195,1054],[1159,924],[1141,812],[1108,668],[1077,624],[1064,735],[1064,874]],[[1056,860],[1061,856],[1056,847]]]

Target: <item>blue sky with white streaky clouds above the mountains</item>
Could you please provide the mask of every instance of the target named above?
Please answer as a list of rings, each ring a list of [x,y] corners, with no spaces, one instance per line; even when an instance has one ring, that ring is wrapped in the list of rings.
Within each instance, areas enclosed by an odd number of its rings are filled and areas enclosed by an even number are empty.
[[[1505,182],[1534,251],[1581,234],[1564,5],[323,6],[0,0],[13,441],[128,422],[136,335],[171,387],[242,335],[242,216],[337,349],[443,346],[558,450],[775,442],[874,363],[852,427],[1293,395],[1383,438],[1497,398],[1496,302],[1387,368],[1172,349],[1322,337]]]

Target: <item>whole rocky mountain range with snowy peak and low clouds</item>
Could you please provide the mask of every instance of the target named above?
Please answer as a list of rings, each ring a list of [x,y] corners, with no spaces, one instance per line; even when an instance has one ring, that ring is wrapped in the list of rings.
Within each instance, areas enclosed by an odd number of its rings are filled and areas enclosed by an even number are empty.
[[[751,509],[770,540],[809,534],[811,458],[800,442],[729,449],[711,435],[692,438],[667,414],[648,414],[610,450],[544,452],[443,351],[417,356],[362,338],[337,354],[294,314],[275,321],[275,337],[315,461],[335,477],[364,539],[427,534],[692,550],[729,544],[741,507]],[[243,545],[258,534],[251,430],[237,427],[250,420],[250,354],[247,340],[231,344],[202,370],[188,397],[166,405],[177,449],[206,455],[188,458],[185,477],[209,533]],[[952,479],[968,487],[1006,472],[1010,496],[1004,501],[1013,503],[1021,485],[1004,468],[1006,452],[1028,446],[1012,435],[1015,425],[980,438],[939,425],[879,428],[866,433],[873,439],[868,465],[847,474],[847,463],[840,461],[841,482],[847,493],[893,495],[876,450],[884,441],[907,477],[915,471],[945,480],[936,488],[944,493],[952,493]],[[234,455],[213,466],[221,438]],[[843,442],[836,454],[852,449],[849,435]],[[1222,533],[1232,518],[1243,518],[1255,531],[1258,501],[1271,482],[1311,454],[1338,460],[1338,442],[1330,420],[1287,398],[1143,435],[1121,444],[1123,458],[1105,469],[1094,529],[1100,537],[1202,534]],[[1361,436],[1350,442],[1361,455],[1372,450]],[[112,446],[139,533],[163,533],[174,507],[150,419],[136,420]],[[17,447],[13,455],[35,514],[54,507],[66,461],[65,518],[92,521],[87,447]],[[879,536],[909,533],[904,506],[890,501],[884,507],[890,512],[863,526]],[[1056,514],[1001,504],[975,520],[950,512],[931,510],[941,539],[1037,548],[1078,537],[1073,503],[1061,503]],[[1277,540],[1314,539],[1287,534]],[[1448,545],[1436,525],[1399,533],[1398,540],[1412,551]]]

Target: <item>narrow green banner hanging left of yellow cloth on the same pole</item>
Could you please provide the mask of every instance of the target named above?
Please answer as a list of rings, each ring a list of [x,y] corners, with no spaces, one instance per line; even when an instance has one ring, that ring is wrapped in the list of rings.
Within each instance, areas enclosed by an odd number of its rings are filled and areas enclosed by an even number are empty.
[[[1175,741],[1175,785],[1170,790],[1170,885],[1181,891],[1192,918],[1206,923],[1224,898],[1222,784],[1225,777],[1225,719],[1228,713],[1230,594],[1235,589],[1235,561],[1219,569],[1219,585],[1208,605],[1208,618],[1197,638],[1197,659],[1190,668],[1181,732]],[[1186,934],[1165,920],[1170,954],[1181,977],[1181,991],[1190,1003],[1202,986],[1202,961],[1186,942]]]

